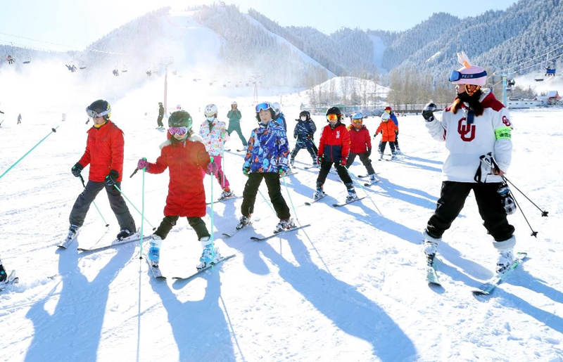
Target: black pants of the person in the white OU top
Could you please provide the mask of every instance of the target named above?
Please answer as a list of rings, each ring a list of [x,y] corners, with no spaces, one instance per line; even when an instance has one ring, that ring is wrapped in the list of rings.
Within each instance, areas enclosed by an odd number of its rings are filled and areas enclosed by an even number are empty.
[[[436,211],[428,221],[426,233],[432,238],[441,238],[462,211],[469,191],[473,190],[483,226],[495,241],[504,241],[514,233],[514,226],[508,224],[502,198],[497,190],[500,183],[473,183],[443,181]]]

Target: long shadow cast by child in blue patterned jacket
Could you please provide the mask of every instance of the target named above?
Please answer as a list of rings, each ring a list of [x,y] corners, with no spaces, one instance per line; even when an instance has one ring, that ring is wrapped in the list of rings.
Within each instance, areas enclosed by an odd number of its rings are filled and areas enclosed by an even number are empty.
[[[279,268],[281,278],[336,327],[372,344],[372,354],[382,361],[416,358],[417,351],[412,341],[381,307],[352,285],[319,269],[297,235],[288,235],[287,239],[299,266],[286,261],[268,243],[260,244],[260,251]]]

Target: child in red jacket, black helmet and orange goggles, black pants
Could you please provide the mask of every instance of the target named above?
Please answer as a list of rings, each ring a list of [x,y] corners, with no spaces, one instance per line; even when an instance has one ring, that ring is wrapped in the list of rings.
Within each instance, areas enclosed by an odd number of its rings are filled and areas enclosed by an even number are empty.
[[[346,162],[348,161],[348,153],[350,153],[350,134],[346,126],[341,123],[343,115],[338,107],[331,107],[327,110],[327,122],[329,124],[322,129],[322,135],[319,142],[319,163],[321,169],[317,177],[317,190],[313,195],[315,200],[324,196],[322,186],[327,179],[332,164],[336,167],[340,179],[346,185],[348,196],[346,202],[358,198],[356,195],[352,179],[346,169]]]

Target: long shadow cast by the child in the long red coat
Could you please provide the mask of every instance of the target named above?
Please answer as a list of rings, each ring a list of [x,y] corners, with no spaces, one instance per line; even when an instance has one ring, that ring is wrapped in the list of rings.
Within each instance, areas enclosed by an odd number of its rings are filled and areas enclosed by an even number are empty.
[[[219,305],[219,270],[205,274],[205,297],[180,302],[166,283],[151,278],[151,287],[160,295],[176,341],[178,361],[235,361],[229,326]],[[186,282],[175,282],[183,287]]]

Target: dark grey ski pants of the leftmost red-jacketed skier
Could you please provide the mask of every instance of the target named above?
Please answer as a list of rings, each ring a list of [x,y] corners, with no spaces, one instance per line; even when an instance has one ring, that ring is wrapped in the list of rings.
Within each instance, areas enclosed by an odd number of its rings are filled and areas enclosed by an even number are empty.
[[[121,183],[118,182],[116,185],[120,188]],[[137,228],[135,228],[135,221],[133,220],[131,213],[129,213],[127,204],[125,204],[125,200],[123,200],[123,197],[118,189],[113,186],[107,186],[106,183],[95,181],[88,181],[84,191],[78,195],[68,218],[70,224],[76,226],[82,226],[82,224],[84,224],[84,218],[86,217],[90,205],[102,188],[106,188],[106,193],[108,194],[108,199],[110,200],[110,207],[115,214],[115,218],[118,219],[120,229],[127,229],[133,232],[137,231]]]

